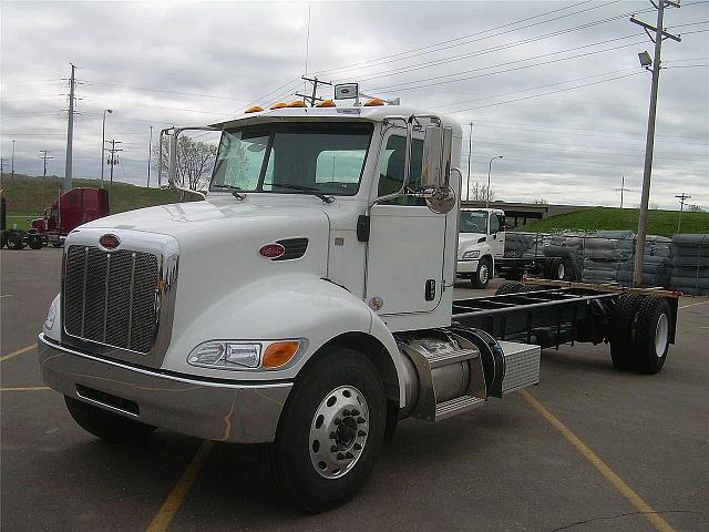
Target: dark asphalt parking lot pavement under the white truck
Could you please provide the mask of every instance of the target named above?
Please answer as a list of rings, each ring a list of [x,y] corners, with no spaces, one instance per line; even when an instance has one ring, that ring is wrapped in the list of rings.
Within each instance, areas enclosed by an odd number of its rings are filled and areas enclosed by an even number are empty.
[[[261,485],[251,447],[165,430],[121,447],[79,428],[32,347],[61,249],[2,250],[0,266],[2,530],[709,530],[708,298],[680,299],[659,375],[616,371],[604,345],[547,349],[538,387],[402,422],[354,500],[305,515]]]

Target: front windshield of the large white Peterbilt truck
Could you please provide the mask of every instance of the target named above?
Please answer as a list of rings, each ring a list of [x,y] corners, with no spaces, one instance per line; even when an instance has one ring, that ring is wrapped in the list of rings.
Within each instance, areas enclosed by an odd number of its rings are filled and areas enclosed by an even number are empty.
[[[273,123],[225,130],[210,191],[352,196],[373,125]]]

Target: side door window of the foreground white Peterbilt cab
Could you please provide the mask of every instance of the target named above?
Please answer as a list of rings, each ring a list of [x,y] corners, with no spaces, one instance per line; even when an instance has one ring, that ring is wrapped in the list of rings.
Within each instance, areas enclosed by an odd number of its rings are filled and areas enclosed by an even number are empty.
[[[407,158],[407,140],[403,136],[390,136],[387,141],[379,175],[378,196],[393,194],[401,190],[403,184],[403,167]],[[421,162],[423,158],[423,141],[413,140],[411,144],[411,162],[409,164],[409,187],[417,190],[421,186]],[[425,205],[422,197],[401,196],[388,202],[386,205]]]

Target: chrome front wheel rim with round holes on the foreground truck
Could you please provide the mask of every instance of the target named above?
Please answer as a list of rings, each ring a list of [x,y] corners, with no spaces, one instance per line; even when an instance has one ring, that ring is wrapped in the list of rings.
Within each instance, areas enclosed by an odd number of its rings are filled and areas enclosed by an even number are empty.
[[[312,417],[308,447],[320,477],[339,479],[352,470],[364,452],[369,408],[361,391],[340,386],[325,396]]]

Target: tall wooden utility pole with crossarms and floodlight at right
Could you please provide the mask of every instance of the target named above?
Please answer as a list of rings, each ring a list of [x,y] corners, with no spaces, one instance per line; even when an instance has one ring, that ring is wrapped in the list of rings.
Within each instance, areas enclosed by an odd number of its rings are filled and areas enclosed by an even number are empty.
[[[650,0],[651,1],[651,0]],[[655,60],[653,62],[653,85],[650,88],[650,109],[647,119],[647,139],[645,143],[645,168],[643,171],[643,193],[640,196],[640,215],[638,219],[638,236],[635,245],[635,263],[633,267],[633,286],[639,287],[643,283],[643,257],[645,254],[645,237],[647,233],[647,209],[650,202],[650,177],[653,174],[653,150],[655,147],[655,114],[657,111],[657,90],[660,81],[660,58],[662,51],[662,40],[672,39],[677,42],[681,42],[678,35],[668,33],[662,28],[662,21],[665,20],[665,7],[671,6],[679,8],[679,3],[672,0],[659,0],[658,3],[653,6],[657,9],[657,25],[653,27],[643,21],[637,20],[635,17],[630,17],[630,22],[640,25],[653,42],[655,42]],[[655,32],[655,37],[653,33]],[[640,64],[648,69],[647,52],[640,54]]]

